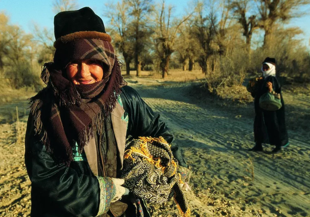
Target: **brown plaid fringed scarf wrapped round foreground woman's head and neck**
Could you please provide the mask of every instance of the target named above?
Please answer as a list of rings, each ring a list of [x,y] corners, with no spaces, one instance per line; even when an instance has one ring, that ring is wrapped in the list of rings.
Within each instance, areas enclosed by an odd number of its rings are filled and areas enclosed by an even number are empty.
[[[74,85],[65,78],[64,67],[79,59],[103,62],[103,79]],[[101,133],[104,118],[115,108],[120,88],[125,85],[120,63],[109,42],[80,39],[57,48],[54,63],[44,65],[41,78],[47,87],[31,98],[35,133],[58,163],[69,165],[75,143],[78,152],[82,152],[93,133]]]

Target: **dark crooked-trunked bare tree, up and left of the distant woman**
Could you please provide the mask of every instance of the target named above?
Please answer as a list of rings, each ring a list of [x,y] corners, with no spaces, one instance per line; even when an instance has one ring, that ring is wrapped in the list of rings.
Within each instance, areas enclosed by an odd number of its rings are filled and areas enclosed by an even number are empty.
[[[231,4],[234,17],[242,26],[243,35],[246,37],[248,54],[251,52],[251,39],[253,31],[259,28],[257,15],[247,16],[249,3],[252,3],[251,0],[238,0],[233,1]]]

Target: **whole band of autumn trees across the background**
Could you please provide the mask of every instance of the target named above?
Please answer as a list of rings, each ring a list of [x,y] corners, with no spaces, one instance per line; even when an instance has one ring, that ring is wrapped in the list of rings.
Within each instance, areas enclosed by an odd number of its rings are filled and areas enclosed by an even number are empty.
[[[267,56],[277,60],[278,76],[310,82],[310,53],[296,36],[302,30],[284,28],[303,16],[310,0],[194,0],[184,17],[176,17],[164,1],[121,0],[102,14],[112,43],[129,74],[161,73],[171,67],[201,69],[210,92],[218,86],[240,85],[255,74]],[[76,0],[55,0],[54,12],[77,9]],[[0,76],[12,88],[37,87],[40,65],[52,61],[53,31],[34,25],[25,34],[0,13]]]

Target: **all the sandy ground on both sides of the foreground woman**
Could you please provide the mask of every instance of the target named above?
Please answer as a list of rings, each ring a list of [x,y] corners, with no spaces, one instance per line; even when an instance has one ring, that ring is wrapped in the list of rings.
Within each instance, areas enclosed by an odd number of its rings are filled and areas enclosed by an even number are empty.
[[[308,117],[309,96],[284,94],[288,124],[302,124],[288,126],[289,147],[273,155],[268,145],[263,153],[247,151],[254,145],[252,104],[224,106],[199,94],[198,82],[127,81],[161,114],[182,147],[192,171],[191,216],[253,217],[254,207],[261,217],[310,217],[310,124],[300,120]],[[26,102],[0,104],[1,217],[30,213],[31,187],[23,163]],[[22,110],[18,122],[16,106]],[[154,217],[178,216],[173,202],[150,206]]]

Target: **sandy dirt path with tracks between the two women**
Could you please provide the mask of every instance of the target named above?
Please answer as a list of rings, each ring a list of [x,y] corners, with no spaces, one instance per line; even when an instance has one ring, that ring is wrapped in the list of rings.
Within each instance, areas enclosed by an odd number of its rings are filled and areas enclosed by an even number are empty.
[[[270,146],[264,153],[250,153],[254,116],[236,115],[214,106],[211,99],[198,102],[186,84],[142,86],[147,81],[138,81],[129,84],[161,114],[183,148],[193,171],[189,197],[201,202],[193,204],[200,216],[208,216],[203,208],[219,209],[224,216],[248,216],[250,202],[262,216],[310,216],[309,135],[289,131],[290,146],[278,155],[270,154]],[[309,105],[309,98],[294,100]]]

